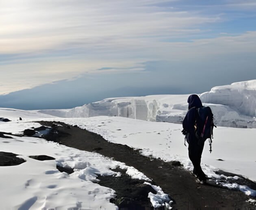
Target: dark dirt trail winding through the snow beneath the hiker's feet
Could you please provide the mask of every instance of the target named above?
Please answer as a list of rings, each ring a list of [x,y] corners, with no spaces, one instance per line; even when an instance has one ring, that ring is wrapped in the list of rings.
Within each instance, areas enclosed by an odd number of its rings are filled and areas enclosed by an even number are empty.
[[[52,122],[40,121],[43,126]],[[206,186],[195,182],[188,171],[160,159],[143,156],[127,145],[110,143],[102,136],[74,126],[59,123],[59,134],[48,136],[49,141],[88,152],[97,152],[133,166],[152,179],[176,202],[175,209],[256,209],[245,202],[249,199],[240,191]],[[138,140],[139,141],[139,140]]]

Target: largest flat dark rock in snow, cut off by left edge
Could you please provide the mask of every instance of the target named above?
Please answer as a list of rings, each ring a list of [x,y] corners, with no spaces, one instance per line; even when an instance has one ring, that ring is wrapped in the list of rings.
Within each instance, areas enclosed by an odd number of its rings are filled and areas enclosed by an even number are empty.
[[[11,152],[0,152],[0,166],[14,166],[26,162],[26,160],[17,158],[16,156],[17,154]]]

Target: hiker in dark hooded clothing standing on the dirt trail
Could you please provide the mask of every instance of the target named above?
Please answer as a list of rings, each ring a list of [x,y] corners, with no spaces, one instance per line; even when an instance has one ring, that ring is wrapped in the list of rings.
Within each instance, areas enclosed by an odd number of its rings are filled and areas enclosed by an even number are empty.
[[[200,123],[200,119],[199,119],[199,113],[198,110],[199,108],[203,108],[202,102],[199,98],[198,95],[190,95],[188,98],[188,103],[189,103],[189,110],[187,112],[187,115],[185,116],[183,122],[182,122],[182,126],[183,129],[182,133],[184,135],[186,135],[185,139],[187,140],[187,142],[189,143],[189,159],[191,160],[194,169],[193,169],[193,174],[195,176],[197,176],[197,178],[202,181],[202,182],[206,182],[207,176],[205,175],[204,171],[202,171],[202,168],[200,166],[201,164],[201,156],[202,156],[202,152],[204,149],[204,141],[202,140],[202,138],[200,138],[197,133],[196,133],[196,126],[199,128],[199,123]],[[209,110],[210,108],[207,107]],[[213,114],[211,112],[211,110],[209,111],[210,113],[210,123],[212,123],[212,119],[213,119]],[[210,118],[209,117],[209,118]],[[206,119],[207,121],[207,119]],[[203,124],[203,123],[201,123]],[[205,122],[206,124],[206,122]],[[210,124],[211,126],[211,124]],[[202,126],[201,126],[202,127]],[[204,125],[205,127],[205,125]],[[211,137],[208,137],[211,138]],[[211,141],[211,139],[210,139]],[[186,145],[186,143],[185,143]]]

